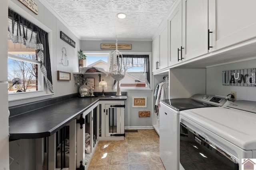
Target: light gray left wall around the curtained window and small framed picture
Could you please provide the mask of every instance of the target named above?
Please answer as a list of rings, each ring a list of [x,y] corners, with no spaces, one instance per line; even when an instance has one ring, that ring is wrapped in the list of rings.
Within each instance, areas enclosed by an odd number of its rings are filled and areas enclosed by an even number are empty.
[[[10,8],[13,9],[12,4],[16,4],[21,8],[21,11],[24,10],[26,13],[30,14],[32,18],[40,21],[50,30],[49,36],[52,39],[49,39],[49,48],[50,48],[50,57],[51,57],[51,69],[52,69],[52,84],[54,89],[54,95],[52,98],[64,96],[68,94],[73,94],[78,92],[77,87],[74,86],[74,76],[71,74],[70,81],[58,81],[57,80],[57,70],[64,72],[78,72],[78,51],[80,50],[80,39],[72,33],[60,20],[58,20],[42,3],[38,0],[35,2],[38,4],[38,15],[30,11],[26,6],[17,0],[11,0],[12,3],[9,4]],[[21,11],[16,11],[18,14],[24,16],[24,13]],[[30,20],[28,18],[28,20]],[[71,39],[76,42],[76,48],[70,46],[68,43],[60,39],[60,31],[64,32]],[[62,59],[62,48],[66,48],[67,57],[69,61],[68,66],[60,64]],[[44,98],[32,98],[26,100],[18,100],[14,102],[9,102],[9,106],[15,106],[18,104],[29,103],[31,101],[43,100]]]

